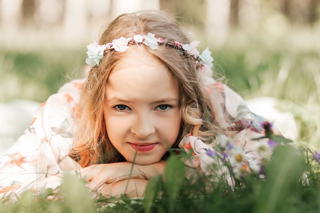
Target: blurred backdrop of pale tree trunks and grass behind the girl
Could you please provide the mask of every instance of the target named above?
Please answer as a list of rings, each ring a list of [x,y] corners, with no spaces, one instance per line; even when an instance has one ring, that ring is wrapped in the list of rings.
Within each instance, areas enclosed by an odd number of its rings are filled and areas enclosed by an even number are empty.
[[[293,136],[318,147],[320,0],[0,0],[0,135],[81,76],[86,45],[110,20],[143,9],[175,15],[210,47],[216,78],[261,113],[289,113]]]

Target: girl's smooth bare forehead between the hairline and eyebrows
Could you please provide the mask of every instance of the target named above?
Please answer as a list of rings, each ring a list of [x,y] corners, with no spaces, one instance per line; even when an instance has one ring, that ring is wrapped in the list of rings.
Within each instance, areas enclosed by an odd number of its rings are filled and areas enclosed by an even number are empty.
[[[178,98],[178,86],[166,66],[151,54],[121,60],[109,75],[107,96]],[[110,98],[110,97],[108,97]]]

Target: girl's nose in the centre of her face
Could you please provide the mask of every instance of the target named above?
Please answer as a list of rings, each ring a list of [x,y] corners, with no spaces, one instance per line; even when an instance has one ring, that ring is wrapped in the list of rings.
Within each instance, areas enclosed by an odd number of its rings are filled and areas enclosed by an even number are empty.
[[[155,128],[149,116],[139,115],[131,127],[131,132],[140,138],[146,138],[155,132]]]

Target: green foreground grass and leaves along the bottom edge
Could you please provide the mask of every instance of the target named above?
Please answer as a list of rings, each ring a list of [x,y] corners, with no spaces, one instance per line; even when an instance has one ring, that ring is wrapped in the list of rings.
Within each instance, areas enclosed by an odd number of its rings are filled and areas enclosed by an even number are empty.
[[[297,150],[291,146],[277,147],[265,169],[266,180],[248,175],[240,177],[237,180],[240,184],[231,187],[223,180],[211,182],[201,175],[195,181],[186,180],[184,163],[171,156],[166,164],[166,181],[162,176],[151,178],[141,198],[90,199],[83,182],[66,175],[58,193],[43,190],[34,195],[27,191],[18,202],[0,202],[0,212],[319,212],[319,177],[309,173],[310,168]],[[303,171],[310,175],[309,185],[301,180]]]

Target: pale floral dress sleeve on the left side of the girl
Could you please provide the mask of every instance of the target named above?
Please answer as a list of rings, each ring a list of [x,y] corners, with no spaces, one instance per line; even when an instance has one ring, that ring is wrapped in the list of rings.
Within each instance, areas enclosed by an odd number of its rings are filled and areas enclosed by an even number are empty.
[[[77,130],[80,85],[80,80],[65,84],[34,112],[30,126],[1,159],[0,196],[54,189],[61,184],[64,171],[80,168],[68,156]]]

